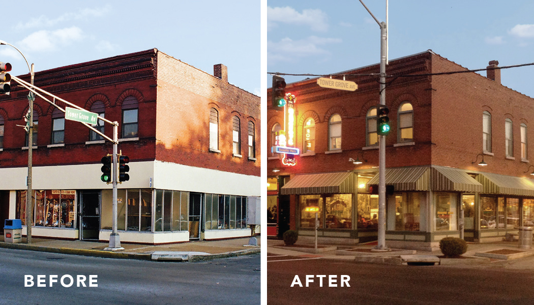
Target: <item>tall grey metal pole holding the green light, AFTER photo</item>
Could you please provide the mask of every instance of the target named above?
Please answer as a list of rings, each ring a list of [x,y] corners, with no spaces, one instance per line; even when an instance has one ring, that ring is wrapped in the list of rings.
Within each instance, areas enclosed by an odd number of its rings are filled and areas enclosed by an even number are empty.
[[[376,23],[380,26],[380,105],[386,105],[386,63],[387,55],[387,33],[386,22],[380,22],[373,13],[365,6],[362,0],[360,3],[371,14]],[[388,1],[386,0],[386,15]],[[386,136],[379,138],[379,163],[378,163],[378,245],[376,249],[387,250],[386,247]]]

